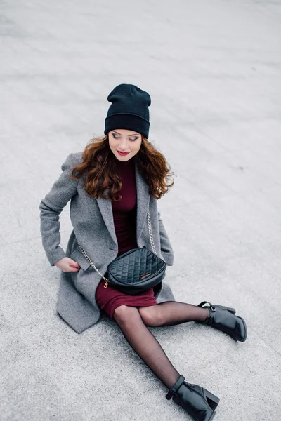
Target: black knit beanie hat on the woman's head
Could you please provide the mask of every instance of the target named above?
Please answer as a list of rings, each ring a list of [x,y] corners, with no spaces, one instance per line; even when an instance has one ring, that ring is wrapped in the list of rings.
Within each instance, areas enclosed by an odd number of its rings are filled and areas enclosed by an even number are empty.
[[[105,135],[117,128],[126,128],[141,133],[148,138],[150,128],[148,107],[150,95],[135,85],[116,86],[108,95],[112,102],[105,119]]]

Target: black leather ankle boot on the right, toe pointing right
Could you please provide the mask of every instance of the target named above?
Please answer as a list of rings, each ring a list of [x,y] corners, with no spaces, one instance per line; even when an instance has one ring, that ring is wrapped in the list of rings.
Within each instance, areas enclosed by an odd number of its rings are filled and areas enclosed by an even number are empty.
[[[205,304],[209,304],[209,306],[204,306]],[[235,309],[223,305],[211,305],[208,301],[200,302],[198,307],[209,309],[209,317],[200,323],[221,330],[235,340],[245,342],[247,338],[246,322],[242,317],[235,316]]]

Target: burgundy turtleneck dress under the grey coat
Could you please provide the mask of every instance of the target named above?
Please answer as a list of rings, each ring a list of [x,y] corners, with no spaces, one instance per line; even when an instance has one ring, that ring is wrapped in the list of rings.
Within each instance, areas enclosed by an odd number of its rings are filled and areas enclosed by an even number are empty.
[[[117,161],[117,171],[122,178],[122,199],[112,201],[113,220],[118,241],[118,255],[126,253],[131,248],[138,248],[136,243],[136,178],[133,159],[122,162]],[[120,305],[133,307],[146,307],[157,305],[153,288],[138,295],[127,295],[108,285],[104,288],[105,281],[100,281],[96,289],[96,302],[108,316],[113,317],[115,309]]]

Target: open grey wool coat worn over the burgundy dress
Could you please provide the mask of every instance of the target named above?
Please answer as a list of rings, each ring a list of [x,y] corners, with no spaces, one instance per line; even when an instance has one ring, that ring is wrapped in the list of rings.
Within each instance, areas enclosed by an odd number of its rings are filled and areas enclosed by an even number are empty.
[[[77,333],[93,326],[100,319],[100,307],[96,302],[96,288],[100,275],[91,267],[81,253],[77,242],[89,258],[105,275],[107,266],[117,257],[118,244],[109,199],[93,199],[84,189],[84,180],[72,180],[70,173],[76,163],[82,161],[82,153],[67,156],[60,177],[51,191],[40,203],[41,236],[44,250],[51,265],[64,258],[72,258],[81,269],[78,272],[61,272],[57,312]],[[167,265],[174,260],[168,235],[157,210],[157,200],[149,194],[148,185],[143,180],[136,165],[137,224],[136,236],[139,248],[151,249],[148,232],[147,210],[150,209],[152,234],[157,255]],[[70,201],[70,219],[73,231],[66,252],[60,247],[60,213]],[[166,283],[155,287],[157,302],[174,300],[171,288]]]

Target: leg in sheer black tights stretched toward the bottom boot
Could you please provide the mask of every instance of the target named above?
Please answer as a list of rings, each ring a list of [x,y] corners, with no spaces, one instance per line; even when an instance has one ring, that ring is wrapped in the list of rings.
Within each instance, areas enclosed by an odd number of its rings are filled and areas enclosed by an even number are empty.
[[[143,323],[138,309],[122,305],[115,309],[113,319],[122,330],[129,345],[159,380],[170,389],[180,375],[172,366],[159,342]]]

